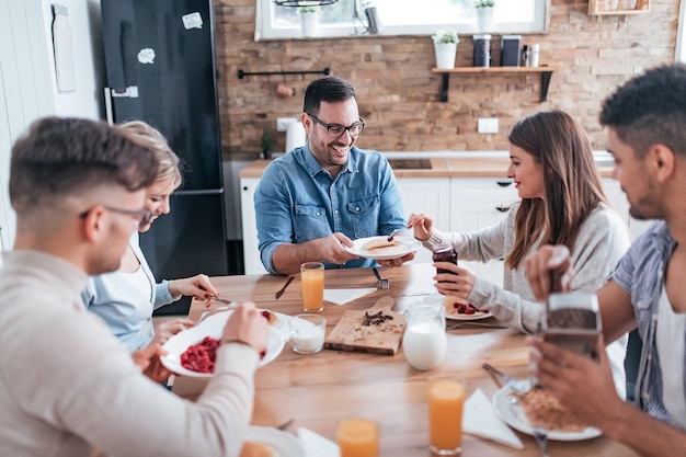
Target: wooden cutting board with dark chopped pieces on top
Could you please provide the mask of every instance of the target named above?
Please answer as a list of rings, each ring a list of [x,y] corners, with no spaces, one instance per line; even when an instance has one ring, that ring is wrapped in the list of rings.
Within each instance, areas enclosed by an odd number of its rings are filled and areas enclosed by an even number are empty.
[[[392,311],[393,299],[381,297],[371,308],[345,311],[324,340],[324,349],[393,355],[400,347],[404,317]]]

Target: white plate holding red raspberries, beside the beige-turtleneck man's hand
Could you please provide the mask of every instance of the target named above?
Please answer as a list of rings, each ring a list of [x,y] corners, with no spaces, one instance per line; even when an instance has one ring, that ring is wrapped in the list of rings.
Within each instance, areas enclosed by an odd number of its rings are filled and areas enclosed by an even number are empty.
[[[167,351],[167,355],[160,357],[162,365],[176,375],[195,378],[210,378],[213,375],[211,373],[199,373],[184,368],[181,365],[181,354],[183,354],[190,345],[197,344],[203,341],[205,336],[220,339],[224,325],[232,312],[232,310],[229,310],[210,316],[201,322],[199,325],[179,332],[170,338],[162,346],[162,349]],[[279,316],[279,319],[281,318],[282,317]],[[284,349],[284,338],[278,330],[274,329],[274,327],[270,327],[268,330],[270,339],[266,343],[266,354],[264,355],[264,358],[260,361],[260,366],[272,362]]]

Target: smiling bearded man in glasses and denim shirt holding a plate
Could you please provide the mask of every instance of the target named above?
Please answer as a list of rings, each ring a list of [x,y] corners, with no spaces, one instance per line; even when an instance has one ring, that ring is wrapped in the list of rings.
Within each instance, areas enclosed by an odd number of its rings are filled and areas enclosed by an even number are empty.
[[[365,127],[355,89],[338,77],[310,82],[300,119],[307,144],[270,163],[255,191],[262,264],[272,274],[298,273],[312,261],[327,269],[376,265],[345,247],[390,235],[405,221],[388,160],[355,146]],[[379,263],[412,259],[413,253]]]

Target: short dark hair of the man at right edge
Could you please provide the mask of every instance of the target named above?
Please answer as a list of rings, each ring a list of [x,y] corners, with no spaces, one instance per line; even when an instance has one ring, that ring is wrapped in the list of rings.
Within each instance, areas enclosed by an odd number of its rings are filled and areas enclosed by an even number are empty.
[[[686,157],[686,65],[663,65],[629,80],[603,102],[601,124],[639,158],[659,142]]]

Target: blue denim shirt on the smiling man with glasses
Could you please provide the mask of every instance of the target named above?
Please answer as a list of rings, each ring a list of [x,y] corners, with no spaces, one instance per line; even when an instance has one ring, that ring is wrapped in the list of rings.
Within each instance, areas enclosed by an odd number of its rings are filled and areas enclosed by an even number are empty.
[[[272,256],[279,244],[299,244],[342,232],[351,240],[389,235],[405,225],[402,201],[388,160],[353,147],[347,164],[333,179],[309,149],[296,148],[270,163],[254,196],[260,258],[278,274]],[[354,259],[325,269],[374,266]]]

